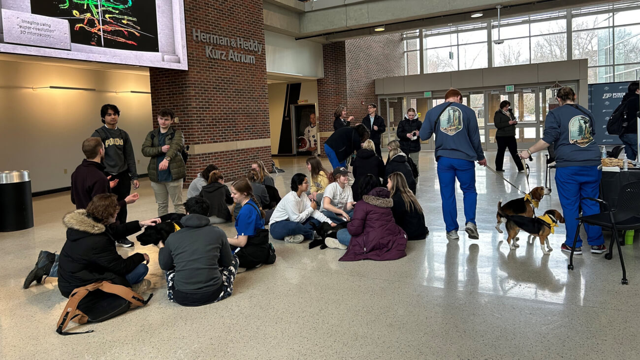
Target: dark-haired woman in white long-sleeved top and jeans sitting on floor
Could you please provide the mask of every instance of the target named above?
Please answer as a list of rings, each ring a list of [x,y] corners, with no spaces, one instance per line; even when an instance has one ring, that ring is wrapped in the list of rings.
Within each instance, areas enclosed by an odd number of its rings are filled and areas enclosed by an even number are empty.
[[[335,227],[335,223],[317,210],[317,204],[303,195],[308,188],[309,181],[305,174],[298,173],[291,178],[291,192],[278,202],[269,220],[269,232],[274,239],[289,243],[311,240],[315,236],[311,222],[316,225],[327,222]]]

